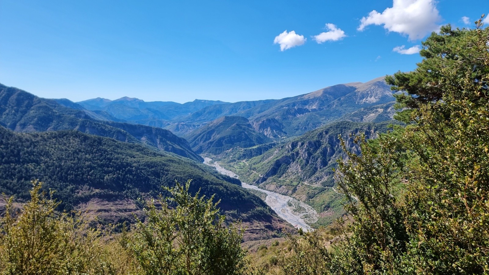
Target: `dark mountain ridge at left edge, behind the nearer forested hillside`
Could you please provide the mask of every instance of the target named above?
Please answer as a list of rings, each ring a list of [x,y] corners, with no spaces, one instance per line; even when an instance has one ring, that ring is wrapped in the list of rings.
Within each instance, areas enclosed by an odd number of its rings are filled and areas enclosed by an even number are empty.
[[[66,100],[64,103],[68,104]],[[39,98],[21,89],[5,85],[0,85],[0,125],[18,132],[74,129],[119,141],[143,143],[202,161],[185,139],[169,130],[96,120],[87,110],[68,108],[56,100]]]

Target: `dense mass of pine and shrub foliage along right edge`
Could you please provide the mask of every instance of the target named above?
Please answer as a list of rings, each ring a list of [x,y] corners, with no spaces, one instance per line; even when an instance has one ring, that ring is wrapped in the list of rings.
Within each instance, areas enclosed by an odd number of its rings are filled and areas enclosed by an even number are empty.
[[[388,79],[409,125],[340,162],[355,222],[333,270],[489,273],[489,29],[441,28],[423,61]],[[346,150],[346,148],[344,148]]]

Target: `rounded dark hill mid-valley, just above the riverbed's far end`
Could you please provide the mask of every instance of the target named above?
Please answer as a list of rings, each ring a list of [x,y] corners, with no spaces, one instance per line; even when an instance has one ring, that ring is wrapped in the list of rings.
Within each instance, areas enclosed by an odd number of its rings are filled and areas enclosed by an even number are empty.
[[[219,154],[230,148],[247,148],[270,142],[240,116],[224,116],[191,132],[188,140],[198,153]]]

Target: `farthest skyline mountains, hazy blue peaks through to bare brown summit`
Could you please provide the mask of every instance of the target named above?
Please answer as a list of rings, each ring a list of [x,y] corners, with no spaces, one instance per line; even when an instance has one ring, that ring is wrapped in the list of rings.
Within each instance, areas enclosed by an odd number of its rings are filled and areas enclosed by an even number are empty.
[[[392,119],[395,99],[384,79],[338,84],[283,99],[236,103],[202,101],[198,105],[196,100],[183,105],[172,102],[143,104],[135,99],[107,101],[98,98],[79,104],[92,111],[106,111],[118,119],[164,127],[179,136],[189,136],[192,131],[223,116],[241,116],[247,118],[256,131],[279,140],[299,136],[335,120],[378,122]],[[137,107],[135,102],[144,106]],[[94,108],[94,105],[98,107]],[[176,111],[178,106],[182,111]],[[353,112],[357,112],[355,116],[351,115]]]

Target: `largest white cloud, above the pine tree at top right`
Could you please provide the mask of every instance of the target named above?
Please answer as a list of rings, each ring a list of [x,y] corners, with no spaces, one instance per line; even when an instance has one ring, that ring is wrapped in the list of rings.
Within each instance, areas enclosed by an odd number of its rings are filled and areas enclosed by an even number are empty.
[[[384,25],[388,31],[408,35],[412,41],[436,31],[440,20],[435,0],[393,0],[392,8],[382,13],[373,10],[368,17],[363,17],[357,30],[363,31],[368,25]]]

